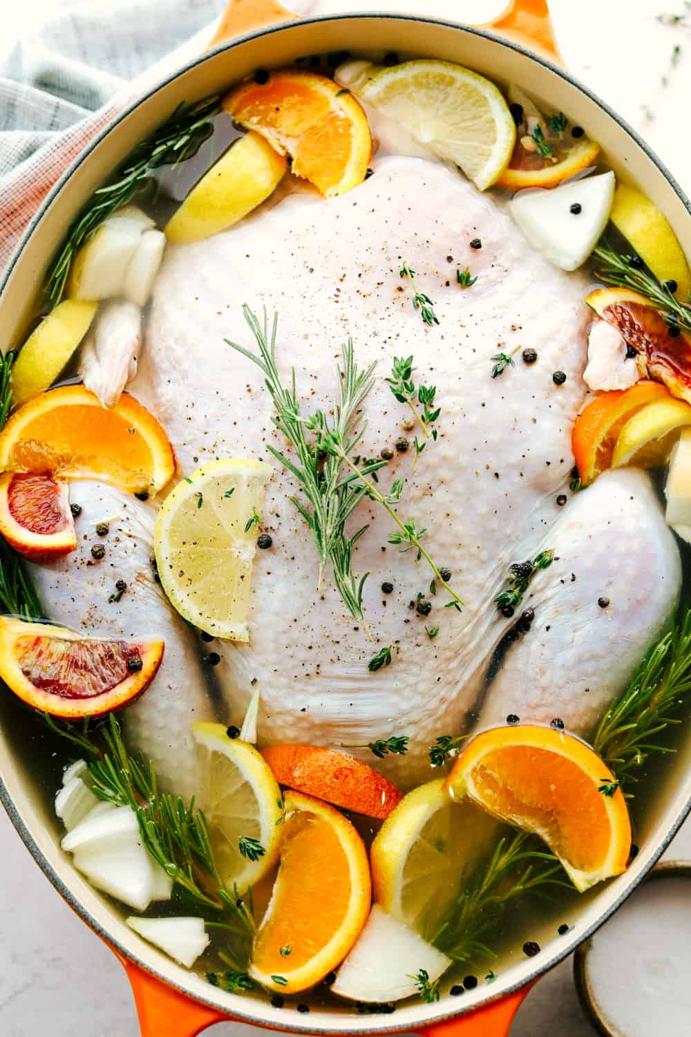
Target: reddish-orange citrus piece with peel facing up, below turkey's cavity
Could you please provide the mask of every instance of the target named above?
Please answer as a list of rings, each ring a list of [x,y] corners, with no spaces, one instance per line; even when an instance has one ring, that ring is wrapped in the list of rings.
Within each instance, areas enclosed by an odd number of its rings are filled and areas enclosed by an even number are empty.
[[[269,746],[262,756],[280,785],[368,817],[388,817],[401,792],[374,767],[335,749]]]

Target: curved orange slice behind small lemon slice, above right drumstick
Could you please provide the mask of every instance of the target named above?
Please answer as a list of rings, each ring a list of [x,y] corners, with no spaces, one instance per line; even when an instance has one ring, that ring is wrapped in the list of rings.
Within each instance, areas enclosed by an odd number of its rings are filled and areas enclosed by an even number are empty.
[[[610,467],[618,433],[636,411],[669,398],[659,382],[637,382],[630,389],[613,389],[592,399],[576,418],[571,436],[581,484],[586,486]]]

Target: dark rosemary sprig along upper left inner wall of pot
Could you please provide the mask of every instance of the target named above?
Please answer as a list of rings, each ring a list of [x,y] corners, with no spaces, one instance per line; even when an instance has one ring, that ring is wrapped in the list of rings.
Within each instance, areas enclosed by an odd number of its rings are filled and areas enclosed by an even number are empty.
[[[163,125],[143,140],[118,170],[117,179],[93,193],[89,207],[73,223],[67,239],[51,264],[46,290],[57,306],[62,298],[69,271],[80,247],[122,205],[152,184],[161,166],[184,162],[210,136],[211,119],[221,111],[219,97],[196,105],[180,105]]]

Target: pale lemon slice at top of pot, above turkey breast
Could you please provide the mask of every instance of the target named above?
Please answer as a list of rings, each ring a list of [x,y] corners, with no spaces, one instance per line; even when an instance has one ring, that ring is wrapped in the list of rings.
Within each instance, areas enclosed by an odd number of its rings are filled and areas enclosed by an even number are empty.
[[[365,67],[356,97],[400,122],[439,158],[455,162],[485,191],[509,165],[516,125],[499,90],[451,61],[404,61]]]

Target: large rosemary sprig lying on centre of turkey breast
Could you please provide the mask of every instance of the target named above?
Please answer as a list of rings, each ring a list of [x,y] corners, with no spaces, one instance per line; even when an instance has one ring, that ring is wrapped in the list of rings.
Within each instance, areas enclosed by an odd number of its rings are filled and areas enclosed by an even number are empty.
[[[323,463],[320,455],[323,449],[321,440],[325,436],[332,437],[346,453],[350,453],[362,440],[365,426],[361,423],[361,410],[374,384],[372,372],[375,365],[372,363],[365,370],[359,370],[354,361],[352,341],[349,339],[343,346],[343,367],[337,368],[339,398],[334,405],[330,423],[321,411],[311,418],[305,418],[297,400],[294,370],[290,388],[286,388],[276,365],[278,314],[273,315],[269,329],[266,310],[262,324],[247,304],[242,307],[242,312],[257,342],[259,355],[237,342],[229,339],[225,341],[263,371],[266,388],[277,412],[271,420],[295,452],[295,458],[292,459],[270,445],[267,448],[295,476],[307,498],[307,506],[296,497],[290,499],[312,530],[319,552],[318,587],[321,588],[324,569],[330,561],[334,583],[344,605],[353,618],[363,622],[367,630],[363,614],[363,586],[369,573],[357,579],[352,571],[352,550],[367,526],[363,526],[350,537],[345,533],[346,521],[367,491],[365,486],[357,485],[352,476],[344,475],[343,461],[335,454],[327,456]],[[315,433],[314,441],[308,439],[309,432]],[[385,464],[384,460],[372,460],[364,466],[362,472],[365,475],[376,472]],[[359,469],[355,471],[361,474]]]

